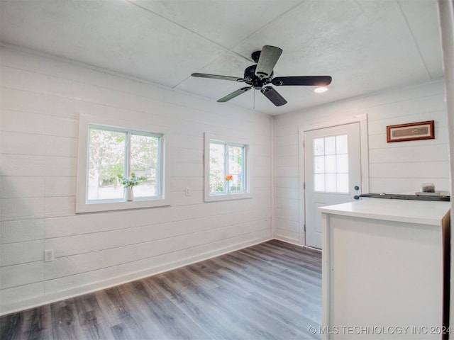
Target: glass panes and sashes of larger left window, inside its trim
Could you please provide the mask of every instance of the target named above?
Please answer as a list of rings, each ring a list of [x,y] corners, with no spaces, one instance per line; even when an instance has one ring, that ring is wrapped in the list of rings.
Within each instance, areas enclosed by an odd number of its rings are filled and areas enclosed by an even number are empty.
[[[160,196],[161,135],[91,125],[87,203],[125,200],[121,179],[141,179],[134,198]]]

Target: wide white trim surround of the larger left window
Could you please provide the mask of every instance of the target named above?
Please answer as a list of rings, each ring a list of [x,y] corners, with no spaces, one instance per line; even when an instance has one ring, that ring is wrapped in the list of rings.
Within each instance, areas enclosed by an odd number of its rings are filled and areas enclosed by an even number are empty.
[[[153,208],[170,205],[170,199],[166,194],[169,186],[168,166],[166,162],[166,149],[169,148],[169,137],[165,131],[149,132],[150,135],[160,135],[160,195],[137,198],[132,201],[113,200],[87,200],[87,166],[89,162],[89,128],[112,128],[112,130],[128,130],[129,132],[145,132],[144,130],[155,130],[147,127],[146,124],[140,127],[126,122],[110,118],[94,118],[88,115],[79,115],[79,143],[77,152],[77,186],[76,186],[76,213],[100,212],[111,210],[125,210],[138,208]],[[161,129],[160,129],[161,130]]]

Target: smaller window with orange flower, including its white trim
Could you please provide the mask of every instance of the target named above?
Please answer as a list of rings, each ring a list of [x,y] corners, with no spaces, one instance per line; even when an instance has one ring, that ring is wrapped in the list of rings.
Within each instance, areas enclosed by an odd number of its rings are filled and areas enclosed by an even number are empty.
[[[249,146],[206,136],[205,200],[250,198]]]

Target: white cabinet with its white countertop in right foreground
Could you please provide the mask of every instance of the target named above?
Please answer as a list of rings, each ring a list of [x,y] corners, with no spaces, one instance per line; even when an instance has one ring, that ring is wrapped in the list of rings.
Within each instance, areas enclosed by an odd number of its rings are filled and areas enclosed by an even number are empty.
[[[441,339],[443,221],[448,228],[450,203],[380,201],[346,203],[350,211],[343,212],[345,205],[320,209],[323,338]],[[384,209],[381,217],[377,207],[367,212],[375,204]],[[389,211],[396,204],[401,217],[393,218]],[[422,208],[438,217],[402,222],[402,215],[412,214],[408,210]]]

